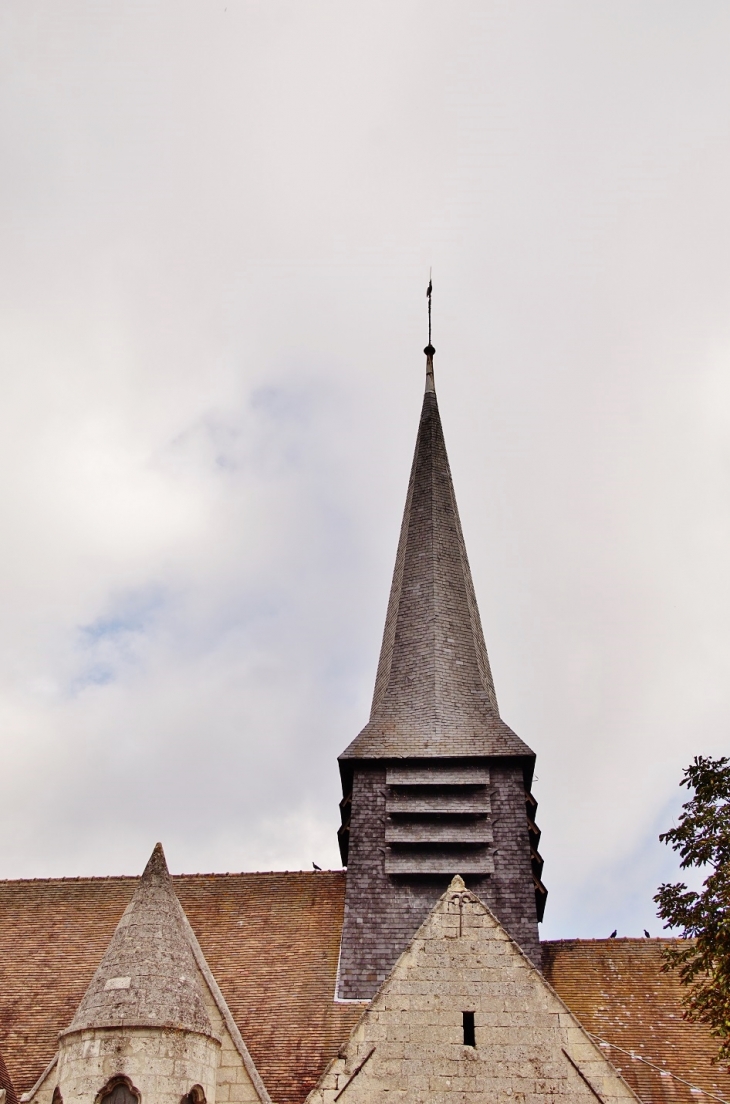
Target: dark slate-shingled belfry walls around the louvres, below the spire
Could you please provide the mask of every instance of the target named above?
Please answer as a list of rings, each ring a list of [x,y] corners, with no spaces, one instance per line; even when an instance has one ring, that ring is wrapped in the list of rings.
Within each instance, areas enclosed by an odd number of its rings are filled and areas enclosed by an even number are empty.
[[[466,882],[540,966],[522,771],[499,762],[488,766],[495,873],[467,877]],[[446,875],[389,875],[384,856],[385,767],[358,765],[352,785],[340,999],[373,996],[449,881]]]

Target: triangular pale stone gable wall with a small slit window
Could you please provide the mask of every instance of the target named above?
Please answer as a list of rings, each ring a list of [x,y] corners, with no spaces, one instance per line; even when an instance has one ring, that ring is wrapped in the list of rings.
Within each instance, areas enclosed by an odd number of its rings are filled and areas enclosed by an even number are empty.
[[[474,1033],[466,1039],[465,1013]],[[494,915],[454,879],[307,1104],[637,1104]]]

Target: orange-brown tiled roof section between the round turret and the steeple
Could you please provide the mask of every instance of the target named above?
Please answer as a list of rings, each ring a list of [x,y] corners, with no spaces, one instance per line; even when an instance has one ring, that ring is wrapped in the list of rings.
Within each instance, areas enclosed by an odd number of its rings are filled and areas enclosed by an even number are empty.
[[[332,1000],[345,874],[186,875],[174,888],[272,1098],[299,1104],[362,1012]]]

